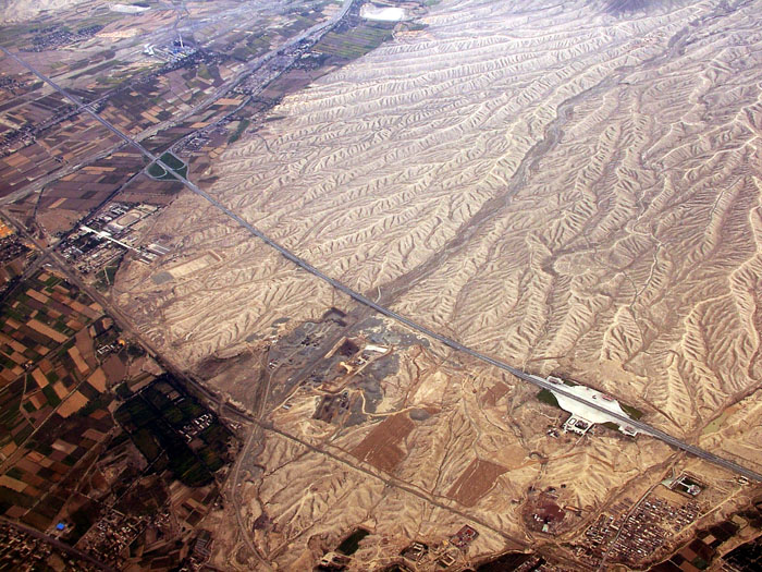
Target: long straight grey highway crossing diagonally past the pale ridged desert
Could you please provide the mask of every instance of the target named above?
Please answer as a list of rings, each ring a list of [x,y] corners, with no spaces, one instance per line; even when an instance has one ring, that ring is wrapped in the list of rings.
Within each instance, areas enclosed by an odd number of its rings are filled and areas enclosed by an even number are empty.
[[[343,8],[342,12],[340,12],[340,14],[342,14],[342,15],[343,15],[343,14],[346,14],[346,12],[347,12],[347,11],[349,10],[349,8],[352,7],[352,3],[353,3],[353,0],[345,0],[345,1],[344,1],[344,8]],[[342,17],[342,16],[340,16],[339,14],[337,14],[336,16],[339,16],[339,19]],[[334,19],[332,19],[332,22],[333,22],[333,23],[335,23],[335,22],[339,21],[339,19],[337,19],[336,16],[334,16]],[[324,25],[323,25],[323,26],[324,26]],[[311,28],[310,28],[310,29],[311,29]],[[321,27],[320,29],[322,31],[322,29],[327,29],[327,28]],[[66,97],[67,99],[70,99],[72,102],[76,104],[77,106],[81,105],[81,101],[79,101],[76,97],[74,97],[74,96],[72,96],[71,94],[69,94],[65,89],[63,89],[60,85],[56,84],[56,83],[54,83],[52,80],[50,80],[49,77],[42,75],[40,72],[38,72],[36,69],[34,69],[32,65],[29,65],[29,64],[26,63],[24,60],[22,60],[21,58],[19,58],[15,53],[9,51],[7,48],[4,48],[4,47],[2,47],[2,46],[0,46],[0,50],[1,50],[3,53],[5,53],[5,56],[8,56],[9,58],[15,60],[20,65],[22,65],[22,66],[26,68],[27,70],[29,70],[29,71],[30,71],[33,74],[35,74],[39,80],[41,80],[42,82],[46,82],[48,85],[50,85],[51,87],[53,87],[53,89],[56,89],[57,92],[59,92],[60,94],[62,94],[64,97]],[[98,122],[100,122],[100,123],[101,123],[103,126],[106,126],[109,131],[111,131],[112,133],[114,133],[115,135],[118,135],[120,138],[122,138],[122,139],[123,139],[125,143],[127,143],[128,145],[131,145],[131,146],[133,146],[134,148],[136,148],[140,154],[143,154],[143,155],[144,155],[146,158],[148,158],[150,161],[156,161],[156,162],[158,162],[161,167],[163,167],[164,169],[167,169],[168,172],[172,171],[172,168],[171,168],[170,166],[168,166],[167,163],[164,163],[163,161],[161,161],[157,156],[155,156],[152,153],[150,153],[149,150],[147,150],[143,145],[140,145],[138,142],[134,141],[132,137],[130,137],[128,135],[126,135],[125,133],[123,133],[121,130],[119,130],[118,127],[115,127],[115,126],[114,126],[113,124],[111,124],[109,121],[107,121],[107,120],[105,120],[103,118],[101,118],[101,117],[100,117],[98,113],[96,113],[93,109],[87,108],[87,107],[84,107],[83,109],[84,109],[87,113],[89,113],[90,115],[93,115],[94,119],[96,119]],[[172,172],[174,172],[174,171],[172,171]],[[524,370],[521,370],[521,369],[518,369],[517,367],[514,367],[514,366],[512,366],[512,365],[509,365],[509,364],[507,364],[507,363],[505,363],[505,362],[503,362],[503,361],[501,361],[501,360],[497,360],[497,358],[495,358],[495,357],[492,357],[492,356],[489,356],[489,355],[487,355],[487,354],[483,354],[483,353],[481,353],[481,352],[479,352],[479,351],[477,351],[477,350],[474,350],[474,349],[471,349],[471,348],[468,348],[468,346],[466,346],[466,345],[463,345],[462,343],[459,343],[459,342],[456,341],[456,340],[453,340],[452,338],[447,338],[446,336],[443,336],[443,334],[441,334],[441,333],[438,333],[438,332],[435,332],[435,331],[433,331],[433,330],[427,328],[426,326],[422,326],[422,325],[420,325],[420,324],[414,321],[413,319],[410,319],[410,318],[408,318],[408,317],[406,317],[406,316],[403,316],[403,315],[401,315],[401,314],[397,314],[396,312],[394,312],[394,311],[392,311],[392,309],[390,309],[390,308],[388,308],[388,307],[385,307],[385,306],[382,306],[382,305],[380,305],[380,304],[373,302],[371,299],[369,299],[369,297],[362,295],[361,293],[359,293],[359,292],[353,290],[352,288],[349,288],[349,287],[347,287],[346,284],[340,282],[339,280],[336,280],[336,279],[334,279],[334,278],[331,278],[330,276],[325,275],[324,272],[322,272],[322,271],[321,271],[320,269],[318,269],[317,267],[315,267],[315,266],[312,266],[311,264],[309,264],[307,260],[300,258],[299,256],[297,256],[297,255],[294,254],[293,252],[288,251],[288,250],[285,248],[284,246],[281,246],[280,244],[278,244],[276,242],[274,242],[272,239],[270,239],[268,235],[266,235],[265,233],[262,233],[259,229],[257,229],[256,227],[254,227],[253,224],[250,224],[249,222],[247,222],[246,220],[244,220],[244,219],[243,219],[241,216],[238,216],[236,212],[234,212],[234,211],[232,211],[231,209],[229,209],[228,207],[225,207],[223,204],[221,204],[221,203],[220,203],[219,200],[217,200],[214,197],[212,197],[212,196],[209,195],[207,192],[205,192],[205,191],[202,191],[201,188],[199,188],[195,183],[188,181],[187,179],[185,179],[185,178],[184,178],[183,175],[181,175],[180,173],[174,173],[174,174],[175,174],[175,177],[176,177],[189,191],[192,191],[193,193],[195,193],[195,194],[197,194],[198,196],[200,196],[200,197],[202,197],[204,199],[206,199],[210,205],[212,205],[214,208],[217,208],[218,210],[220,210],[221,212],[223,212],[228,218],[230,218],[231,220],[235,221],[235,222],[238,223],[241,227],[243,227],[244,229],[246,229],[246,230],[247,230],[249,233],[251,233],[254,236],[256,236],[256,238],[258,238],[259,240],[261,240],[265,244],[267,244],[268,246],[270,246],[271,248],[273,248],[274,251],[276,251],[278,253],[280,253],[284,258],[286,258],[287,260],[290,260],[291,263],[293,263],[293,264],[296,265],[297,267],[302,268],[303,270],[306,270],[307,272],[311,273],[312,276],[319,278],[320,280],[323,280],[324,282],[329,283],[332,288],[334,288],[335,290],[337,290],[337,291],[340,291],[340,292],[343,292],[344,294],[346,294],[346,295],[349,296],[351,299],[355,300],[356,302],[358,302],[358,303],[360,303],[360,304],[362,304],[362,305],[365,305],[365,306],[367,306],[367,307],[369,307],[369,308],[374,309],[374,311],[378,312],[379,314],[382,314],[382,315],[384,315],[384,316],[386,316],[386,317],[389,317],[389,318],[392,318],[393,320],[395,320],[395,321],[397,321],[397,322],[400,322],[400,324],[406,326],[407,328],[409,328],[409,329],[411,329],[411,330],[414,330],[414,331],[420,332],[420,333],[422,333],[422,334],[425,334],[425,336],[427,336],[427,337],[429,337],[429,338],[432,338],[432,339],[434,339],[434,340],[438,340],[439,342],[443,343],[443,344],[446,345],[447,348],[451,348],[451,349],[453,349],[453,350],[455,350],[455,351],[457,351],[457,352],[464,353],[464,354],[468,354],[468,355],[470,355],[471,357],[475,357],[476,360],[479,360],[480,362],[483,362],[483,363],[486,363],[486,364],[489,364],[489,365],[492,365],[492,366],[494,366],[494,367],[497,367],[497,368],[500,368],[500,369],[502,369],[502,370],[504,370],[504,372],[507,372],[507,373],[512,374],[513,376],[515,376],[515,377],[517,377],[517,378],[519,378],[519,379],[523,379],[524,381],[527,381],[527,382],[529,382],[529,384],[531,384],[531,385],[533,385],[533,386],[536,386],[536,387],[539,387],[539,388],[541,388],[541,389],[552,390],[552,391],[554,391],[555,393],[562,394],[562,395],[564,395],[564,397],[566,397],[566,398],[568,398],[568,399],[575,400],[575,401],[577,401],[577,402],[579,402],[579,403],[583,403],[583,404],[586,404],[586,405],[588,405],[588,406],[590,406],[590,407],[592,407],[592,409],[594,409],[594,410],[601,411],[601,412],[605,413],[606,415],[609,415],[611,418],[616,419],[617,422],[620,422],[622,424],[630,425],[630,426],[635,427],[636,429],[638,429],[640,433],[643,433],[643,434],[650,435],[650,436],[652,436],[652,437],[654,437],[654,438],[656,438],[656,439],[660,439],[660,440],[666,442],[667,445],[669,445],[669,446],[672,446],[672,447],[674,447],[674,448],[676,448],[676,449],[680,449],[680,450],[686,451],[686,452],[688,452],[688,453],[690,453],[690,454],[693,454],[693,455],[696,455],[696,457],[698,457],[698,458],[700,458],[700,459],[704,459],[705,461],[709,461],[710,463],[713,463],[713,464],[715,464],[715,465],[717,465],[717,466],[721,466],[721,467],[723,467],[723,468],[726,468],[726,470],[728,470],[728,471],[732,471],[732,472],[734,472],[734,473],[736,473],[736,474],[742,475],[742,476],[745,476],[745,477],[747,477],[747,478],[749,478],[749,479],[751,479],[751,480],[757,480],[757,482],[762,483],[762,474],[760,474],[760,473],[757,473],[757,472],[754,472],[754,471],[752,471],[752,470],[750,470],[750,468],[743,467],[743,466],[739,465],[738,463],[736,463],[736,462],[734,462],[734,461],[730,461],[730,460],[728,460],[728,459],[721,458],[721,457],[718,457],[718,455],[716,455],[716,454],[714,454],[714,453],[711,453],[711,452],[709,452],[709,451],[705,451],[705,450],[703,450],[703,449],[701,449],[701,448],[699,448],[699,447],[697,447],[697,446],[695,446],[695,445],[690,445],[690,443],[688,443],[688,442],[685,442],[685,441],[683,441],[683,440],[680,440],[680,439],[678,439],[678,438],[676,438],[676,437],[673,437],[672,435],[668,435],[668,434],[666,434],[666,433],[664,433],[664,431],[662,431],[662,430],[660,430],[660,429],[656,429],[656,428],[654,428],[654,427],[651,427],[651,426],[648,425],[647,423],[643,423],[643,422],[640,422],[640,421],[631,419],[631,418],[629,418],[629,417],[627,417],[627,416],[625,416],[625,415],[616,414],[616,413],[614,413],[614,412],[612,412],[612,411],[610,411],[610,410],[607,410],[607,409],[605,409],[605,407],[602,407],[601,405],[599,405],[599,404],[595,403],[595,402],[587,401],[587,400],[585,400],[583,398],[580,398],[580,397],[578,397],[578,395],[576,395],[576,394],[574,394],[574,393],[570,393],[570,392],[568,392],[568,391],[565,391],[563,388],[560,388],[557,385],[551,384],[551,382],[546,381],[545,379],[543,379],[543,378],[541,378],[541,377],[538,377],[538,376],[528,374],[528,373],[526,373],[526,372],[524,372]]]

